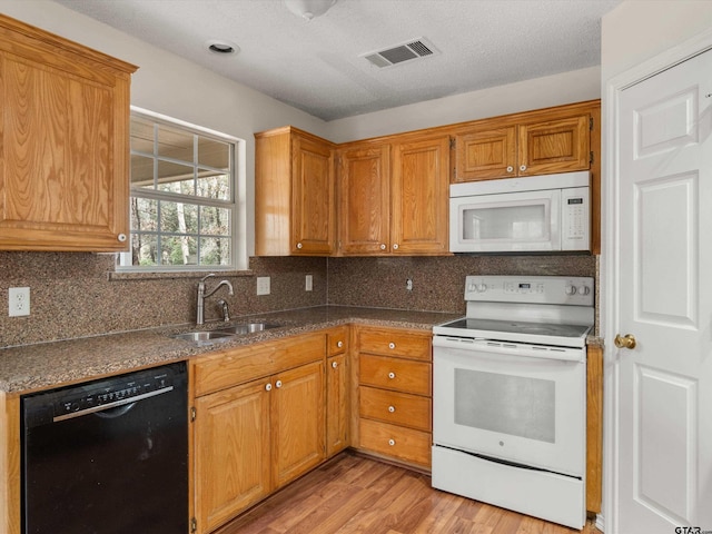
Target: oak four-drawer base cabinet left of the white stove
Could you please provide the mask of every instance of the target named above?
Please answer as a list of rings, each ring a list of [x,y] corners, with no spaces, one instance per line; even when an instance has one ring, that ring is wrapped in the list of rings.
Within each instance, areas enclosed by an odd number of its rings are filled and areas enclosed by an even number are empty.
[[[429,469],[431,332],[382,327],[357,327],[356,332],[356,447]]]

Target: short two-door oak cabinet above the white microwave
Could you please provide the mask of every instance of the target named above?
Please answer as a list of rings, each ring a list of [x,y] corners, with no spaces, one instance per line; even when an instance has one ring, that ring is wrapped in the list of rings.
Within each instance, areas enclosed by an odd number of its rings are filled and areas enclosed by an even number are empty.
[[[472,122],[455,135],[452,181],[590,169],[594,112],[573,105]]]

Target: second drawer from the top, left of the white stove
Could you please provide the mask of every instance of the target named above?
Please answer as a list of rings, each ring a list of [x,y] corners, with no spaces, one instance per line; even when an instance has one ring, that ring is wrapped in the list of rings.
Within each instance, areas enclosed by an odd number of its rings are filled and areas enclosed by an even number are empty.
[[[431,395],[431,364],[362,354],[360,384],[416,395]]]

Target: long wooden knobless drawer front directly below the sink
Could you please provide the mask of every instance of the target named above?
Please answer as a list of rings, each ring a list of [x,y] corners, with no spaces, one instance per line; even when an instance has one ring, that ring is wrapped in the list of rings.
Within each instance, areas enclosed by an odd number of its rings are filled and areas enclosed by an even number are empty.
[[[325,350],[325,334],[306,334],[199,356],[194,365],[195,395],[199,397],[324,358]]]

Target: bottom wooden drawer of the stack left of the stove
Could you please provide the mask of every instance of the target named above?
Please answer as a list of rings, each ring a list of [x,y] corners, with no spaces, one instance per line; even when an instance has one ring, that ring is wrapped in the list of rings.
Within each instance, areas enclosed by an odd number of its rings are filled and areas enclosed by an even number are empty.
[[[426,467],[431,466],[432,437],[429,432],[414,431],[370,419],[359,419],[358,428],[362,448]]]

